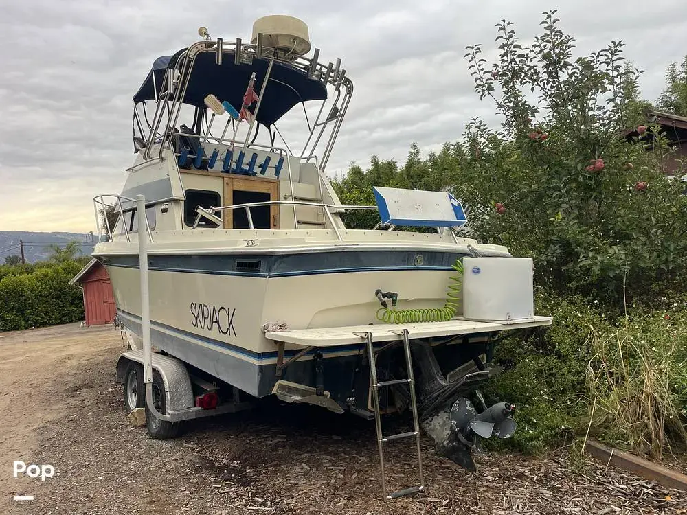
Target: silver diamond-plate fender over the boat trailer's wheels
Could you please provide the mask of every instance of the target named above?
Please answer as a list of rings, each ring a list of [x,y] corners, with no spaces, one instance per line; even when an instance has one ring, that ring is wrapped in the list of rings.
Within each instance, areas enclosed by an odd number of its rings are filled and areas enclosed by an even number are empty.
[[[194,407],[193,387],[183,361],[171,356],[153,353],[153,369],[157,370],[165,385],[167,411],[182,411]],[[129,362],[143,365],[143,351],[124,352],[117,360],[117,382],[124,382],[124,372]]]

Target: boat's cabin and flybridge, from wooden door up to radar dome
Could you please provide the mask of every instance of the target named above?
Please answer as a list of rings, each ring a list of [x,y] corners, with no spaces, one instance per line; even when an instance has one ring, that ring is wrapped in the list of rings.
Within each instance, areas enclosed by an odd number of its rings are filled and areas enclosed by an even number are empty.
[[[258,20],[250,44],[199,34],[157,58],[133,97],[135,163],[121,195],[95,199],[114,213],[106,231],[136,231],[139,194],[151,231],[343,229],[323,172],[352,94],[341,60],[306,58],[307,27],[289,16]]]

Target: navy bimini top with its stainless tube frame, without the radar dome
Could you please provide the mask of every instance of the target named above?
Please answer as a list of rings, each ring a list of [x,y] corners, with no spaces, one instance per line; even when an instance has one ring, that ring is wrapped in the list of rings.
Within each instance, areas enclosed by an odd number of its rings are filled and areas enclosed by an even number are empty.
[[[313,58],[306,58],[263,47],[262,34],[258,34],[254,45],[245,44],[240,38],[231,43],[218,38],[217,41],[200,41],[173,56],[158,58],[133,98],[135,104],[146,100],[157,102],[153,121],[149,124],[144,159],[161,160],[164,150],[171,148],[174,127],[183,104],[195,106],[196,110],[204,113],[203,101],[212,93],[238,110],[249,78],[255,73],[255,89],[260,91],[261,98],[254,114],[256,122],[268,129],[296,104],[308,100],[322,101],[312,124],[304,107],[310,132],[300,157],[314,159],[315,149],[329,128],[329,137],[319,159],[319,166],[324,170],[346,114],[353,84],[346,76],[346,70],[341,68],[341,59],[323,65],[318,58],[319,49],[315,49]],[[335,96],[324,113],[328,86],[333,87]],[[136,111],[134,122],[144,134]],[[158,156],[153,157],[152,148],[157,144]]]

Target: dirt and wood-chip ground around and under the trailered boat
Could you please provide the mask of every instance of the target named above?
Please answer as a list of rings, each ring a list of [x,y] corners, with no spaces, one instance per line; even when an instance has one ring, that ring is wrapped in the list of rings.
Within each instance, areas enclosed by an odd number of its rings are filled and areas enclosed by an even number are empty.
[[[427,492],[381,503],[373,424],[262,402],[156,441],[126,421],[114,383],[120,352],[120,333],[110,326],[0,333],[0,514],[672,514],[687,507],[678,492],[600,464],[575,474],[556,457],[486,455],[477,459],[478,474],[468,474],[436,457],[429,442]],[[413,453],[394,447],[391,481],[412,484]],[[15,460],[56,472],[46,481],[14,479]]]

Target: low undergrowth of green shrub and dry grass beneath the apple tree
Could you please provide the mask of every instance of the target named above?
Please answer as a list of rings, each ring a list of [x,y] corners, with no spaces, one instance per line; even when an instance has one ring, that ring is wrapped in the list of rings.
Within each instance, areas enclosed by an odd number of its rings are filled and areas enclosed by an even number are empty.
[[[499,343],[504,373],[484,387],[518,406],[499,446],[538,453],[589,435],[656,459],[687,450],[687,294],[620,317],[580,297],[538,290],[535,301],[553,325]]]

